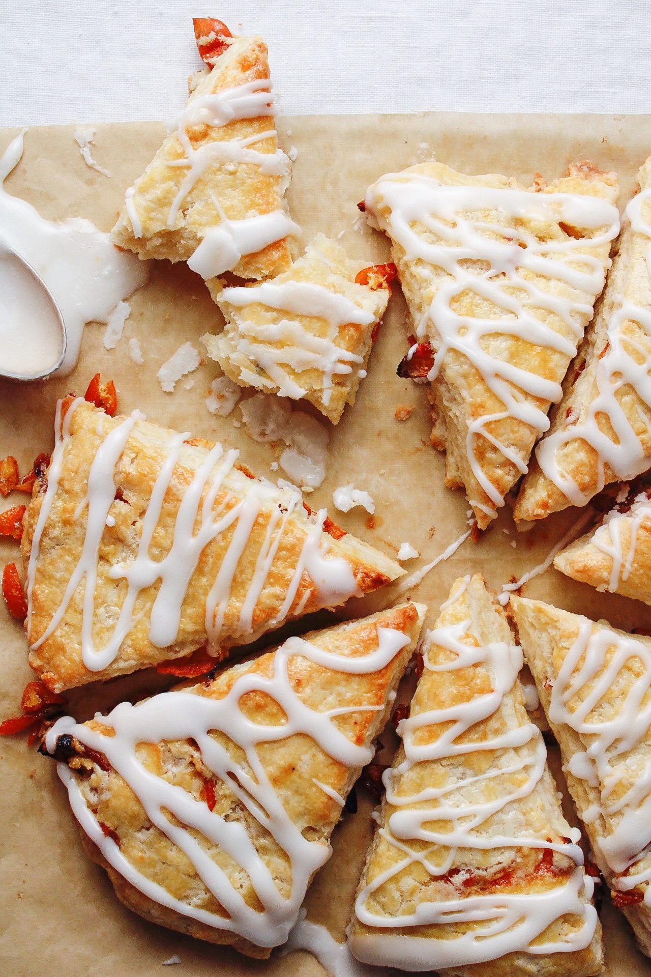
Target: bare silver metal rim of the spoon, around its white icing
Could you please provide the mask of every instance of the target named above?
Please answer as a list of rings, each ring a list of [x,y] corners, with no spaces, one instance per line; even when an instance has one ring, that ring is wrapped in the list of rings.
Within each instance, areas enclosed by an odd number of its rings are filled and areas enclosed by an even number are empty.
[[[39,298],[42,301],[41,304],[45,304],[47,307],[47,314],[51,320],[52,328],[56,330],[57,335],[57,359],[52,362],[52,357],[50,363],[45,369],[35,370],[33,372],[24,372],[17,369],[7,369],[2,364],[3,351],[0,346],[0,377],[5,377],[8,380],[19,380],[23,382],[31,382],[34,380],[45,380],[47,377],[52,376],[52,374],[59,369],[63,358],[65,356],[66,347],[66,334],[65,334],[65,323],[61,315],[61,309],[57,304],[52,292],[46,285],[43,278],[31,267],[31,265],[24,260],[24,258],[15,251],[7,241],[0,238],[0,316],[2,316],[2,306],[3,306],[3,296],[2,296],[2,283],[3,279],[5,283],[8,280],[12,282],[12,295],[16,298],[16,295],[25,296],[25,310],[28,310],[30,303],[33,305],[34,289],[39,290]],[[11,301],[10,296],[10,301]],[[5,306],[5,309],[7,306]],[[29,313],[27,312],[28,316]],[[1,327],[0,327],[1,328]]]

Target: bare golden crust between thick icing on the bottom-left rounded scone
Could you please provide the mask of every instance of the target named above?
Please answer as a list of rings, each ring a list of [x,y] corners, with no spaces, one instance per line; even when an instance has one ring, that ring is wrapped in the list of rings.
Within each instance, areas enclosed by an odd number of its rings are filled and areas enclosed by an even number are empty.
[[[384,668],[368,674],[336,672],[307,658],[294,656],[289,661],[292,688],[310,709],[317,712],[355,705],[384,706],[378,711],[351,711],[333,719],[348,740],[369,746],[387,722],[394,700],[391,693],[397,688],[414,651],[425,610],[423,605],[403,604],[361,620],[305,634],[305,640],[318,648],[349,658],[362,658],[378,648],[378,627],[402,631],[409,638],[409,643]],[[270,677],[273,654],[271,651],[254,661],[233,665],[189,689],[186,686],[180,688],[197,696],[223,699],[235,680],[243,674],[256,672]],[[240,708],[250,721],[264,725],[280,725],[285,721],[278,704],[259,691],[242,697]],[[99,728],[94,720],[86,725]],[[210,735],[237,757],[236,747],[224,734],[213,731]],[[75,743],[78,753],[67,761],[68,767],[75,773],[79,789],[103,826],[102,830],[110,832],[113,840],[118,842],[121,854],[147,878],[163,886],[177,899],[183,902],[191,900],[195,908],[215,913],[215,926],[153,902],[105,862],[100,849],[82,830],[88,854],[108,871],[121,902],[144,918],[170,929],[211,943],[231,945],[248,956],[268,957],[268,948],[259,947],[236,933],[219,928],[220,916],[225,915],[224,909],[206,888],[181,849],[148,821],[139,799],[125,781],[112,768],[102,769],[97,759],[89,758],[84,753],[84,747]],[[301,827],[305,838],[327,845],[333,828],[340,820],[342,808],[321,787],[316,786],[312,778],[346,797],[359,776],[359,769],[348,768],[334,760],[305,734],[263,743],[258,747],[258,753],[267,777],[294,824]],[[148,770],[169,783],[183,787],[195,799],[204,799],[202,791],[205,791],[206,782],[212,782],[216,797],[215,813],[226,821],[237,820],[244,825],[264,864],[273,871],[279,890],[289,894],[291,871],[282,848],[239,803],[229,786],[216,778],[204,764],[195,743],[187,740],[141,743],[137,754]],[[103,765],[107,766],[105,760]],[[247,904],[260,908],[246,871],[218,845],[207,839],[205,841],[205,850],[226,872],[231,884]]]

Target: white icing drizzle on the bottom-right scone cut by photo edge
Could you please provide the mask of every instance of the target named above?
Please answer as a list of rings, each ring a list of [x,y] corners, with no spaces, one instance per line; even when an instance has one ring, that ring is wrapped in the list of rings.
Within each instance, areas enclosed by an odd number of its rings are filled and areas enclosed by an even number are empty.
[[[614,688],[620,700],[616,710]],[[651,851],[651,763],[645,752],[631,756],[649,743],[650,693],[648,647],[581,617],[551,688],[549,722],[569,726],[586,747],[568,769],[598,791],[584,821],[603,819],[596,854],[610,871],[627,871],[614,879],[623,891],[651,881],[651,866],[635,871],[635,863]],[[651,906],[651,886],[644,902]]]

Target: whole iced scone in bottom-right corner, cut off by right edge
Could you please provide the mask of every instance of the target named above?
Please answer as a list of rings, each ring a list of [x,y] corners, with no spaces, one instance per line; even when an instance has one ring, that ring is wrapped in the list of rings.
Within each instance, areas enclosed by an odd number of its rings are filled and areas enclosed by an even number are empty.
[[[595,859],[651,956],[651,640],[510,603]]]

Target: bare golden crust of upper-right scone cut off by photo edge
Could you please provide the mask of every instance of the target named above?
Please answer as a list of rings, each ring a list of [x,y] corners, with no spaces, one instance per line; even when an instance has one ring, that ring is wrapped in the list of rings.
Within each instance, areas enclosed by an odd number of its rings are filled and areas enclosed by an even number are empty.
[[[641,191],[651,188],[651,157],[641,167],[638,182]],[[646,219],[648,219],[648,203],[646,206]],[[648,237],[634,231],[631,222],[625,216],[622,221],[618,254],[608,276],[606,290],[572,370],[568,374],[569,382],[563,399],[553,410],[549,432],[544,436],[541,445],[544,445],[545,440],[556,432],[564,431],[568,425],[582,424],[588,417],[590,405],[594,403],[599,393],[596,383],[597,365],[607,354],[608,327],[621,300],[641,309],[651,310],[651,281],[646,266],[648,248]],[[629,340],[627,352],[630,352],[633,361],[641,363],[643,356],[651,357],[651,337],[641,323],[624,319],[618,331],[621,336]],[[635,353],[635,349],[639,352]],[[628,384],[619,387],[613,396],[626,414],[639,441],[637,470],[625,476],[633,478],[651,463],[651,405],[645,404]],[[606,414],[599,412],[596,424],[599,431],[617,444],[618,436]],[[603,482],[601,481],[599,456],[583,438],[573,438],[559,446],[555,452],[555,461],[560,470],[576,483],[586,496],[586,500],[600,491],[603,485],[620,480],[607,461],[604,461]],[[545,475],[534,458],[529,473],[520,486],[513,515],[516,522],[545,519],[550,513],[566,509],[572,504],[564,491]]]

